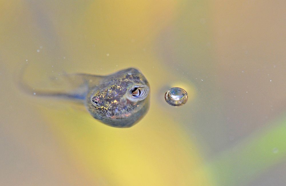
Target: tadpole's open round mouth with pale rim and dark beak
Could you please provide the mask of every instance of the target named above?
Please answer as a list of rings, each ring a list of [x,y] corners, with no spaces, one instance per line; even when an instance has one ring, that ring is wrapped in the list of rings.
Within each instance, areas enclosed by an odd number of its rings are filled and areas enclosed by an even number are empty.
[[[142,101],[149,93],[149,87],[147,85],[134,85],[127,89],[126,98],[130,101]]]

